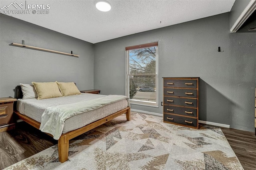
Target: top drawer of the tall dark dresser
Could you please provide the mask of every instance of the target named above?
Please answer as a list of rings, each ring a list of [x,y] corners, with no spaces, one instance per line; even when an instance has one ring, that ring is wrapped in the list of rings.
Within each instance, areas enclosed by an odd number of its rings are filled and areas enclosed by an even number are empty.
[[[197,88],[197,80],[164,79],[164,87]]]

